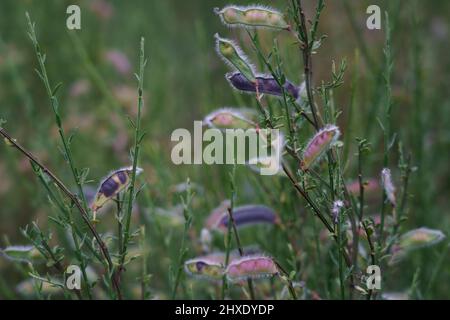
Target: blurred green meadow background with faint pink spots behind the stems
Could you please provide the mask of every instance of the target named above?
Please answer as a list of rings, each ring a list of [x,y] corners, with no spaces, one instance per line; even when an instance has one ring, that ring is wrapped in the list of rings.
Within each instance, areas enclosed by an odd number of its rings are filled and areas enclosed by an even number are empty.
[[[289,3],[261,2],[281,10]],[[307,14],[311,16],[314,1],[305,2]],[[80,31],[66,29],[65,11],[74,3],[82,10]],[[231,90],[224,78],[228,69],[214,50],[216,32],[250,48],[245,32],[224,27],[213,14],[214,7],[224,4],[227,2],[216,0],[1,1],[0,117],[7,120],[4,127],[70,185],[72,179],[59,151],[49,101],[34,71],[37,64],[25,19],[28,11],[36,21],[38,38],[47,54],[49,77],[54,85],[62,82],[58,97],[64,125],[68,132],[77,132],[73,143],[75,161],[80,168],[90,168],[91,186],[96,188],[109,171],[129,164],[133,135],[127,115],[136,113],[137,83],[133,73],[138,69],[139,39],[145,37],[149,64],[145,73],[143,127],[147,137],[140,166],[145,170],[141,182],[147,182],[148,187],[140,210],[142,216],[151,216],[155,210],[176,214],[180,201],[175,186],[189,177],[198,186],[191,235],[196,239],[210,210],[229,197],[231,167],[174,166],[170,160],[170,134],[176,128],[191,129],[194,120],[201,120],[208,112],[222,106],[255,107],[250,96]],[[239,4],[250,2],[241,0]],[[346,144],[345,175],[349,180],[356,178],[355,137],[367,138],[372,143],[373,152],[364,169],[366,175],[377,177],[382,166],[382,132],[376,118],[384,101],[380,69],[384,27],[372,31],[365,27],[365,10],[370,4],[378,4],[390,13],[394,30],[392,128],[405,151],[412,154],[416,168],[411,176],[406,225],[438,228],[448,235],[448,1],[326,1],[319,30],[327,39],[314,55],[314,79],[316,84],[329,79],[332,61],[339,64],[347,59],[345,83],[334,93],[337,108],[343,110],[339,125]],[[274,34],[262,31],[260,36],[263,47],[269,50]],[[302,80],[300,53],[288,35],[276,36],[284,71],[289,79],[299,83]],[[250,50],[247,52],[256,59]],[[397,160],[395,151],[393,163]],[[400,181],[395,170],[394,177]],[[293,224],[292,232],[302,233],[307,257],[300,260],[306,259],[304,262],[308,265],[311,257],[308,248],[314,246],[313,234],[318,231],[318,225],[313,227],[314,218],[302,209],[301,201],[287,182],[270,179],[238,168],[238,203],[264,203],[278,211],[293,212],[286,215],[300,214],[301,219]],[[54,214],[53,209],[28,161],[1,144],[0,246],[24,244],[20,228],[31,221],[51,229],[48,220],[51,214]],[[112,217],[105,215],[102,219],[105,221],[100,226],[102,232],[114,230]],[[144,217],[144,220],[149,224],[149,268],[154,275],[151,287],[155,295],[164,297],[168,288],[167,265],[178,254],[182,224],[165,220],[155,223],[151,217],[147,220]],[[268,238],[274,241],[267,241]],[[269,251],[277,246],[273,243],[277,239],[281,241],[264,227],[252,235],[243,235],[245,244],[256,242]],[[195,245],[192,243],[192,256]],[[414,255],[407,263],[389,271],[389,281],[385,285],[390,291],[403,291],[417,281],[414,286],[419,288],[420,298],[449,298],[448,251],[448,241],[445,241]],[[323,276],[326,278],[330,273],[326,271]],[[132,271],[127,277],[130,282],[136,278]],[[0,298],[23,298],[16,290],[21,281],[23,275],[9,261],[0,258]],[[313,281],[311,285],[319,287],[321,281]],[[132,290],[130,286],[129,291]],[[204,297],[201,293],[193,296]],[[333,295],[324,293],[323,297]]]

